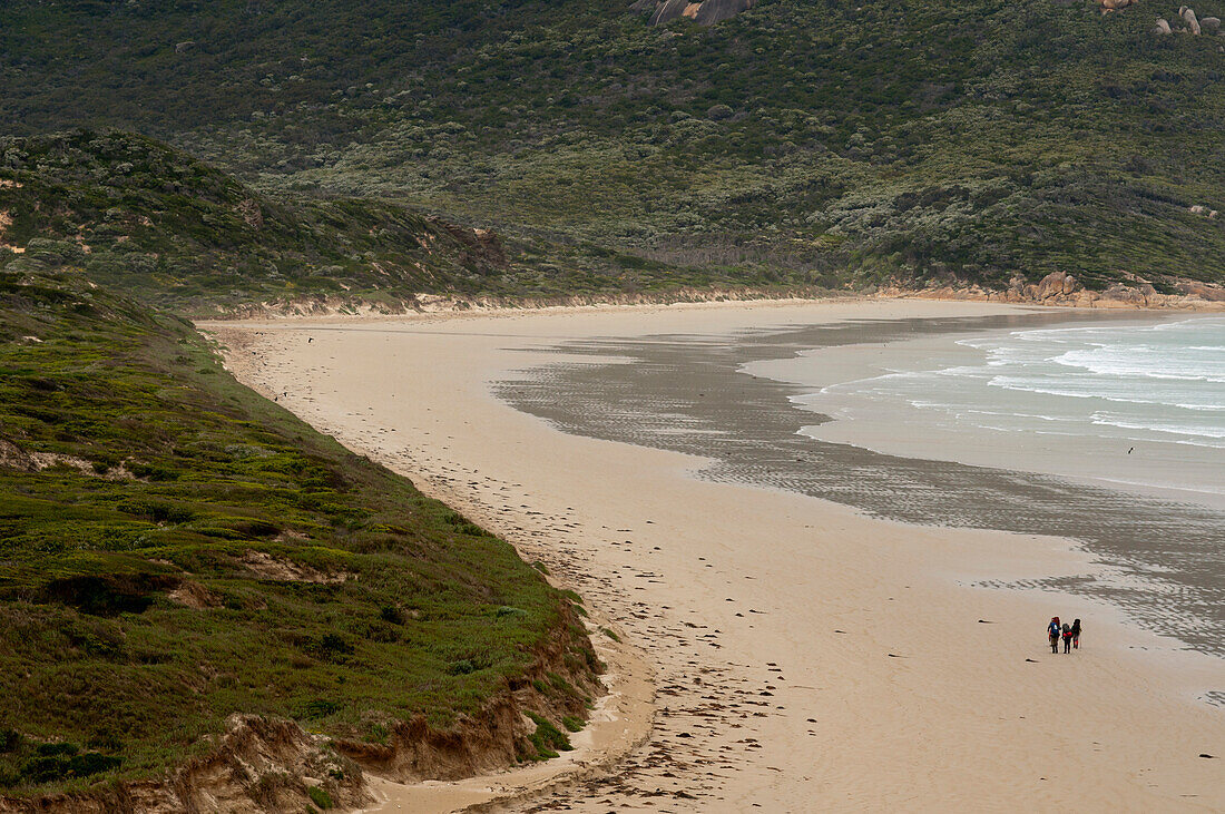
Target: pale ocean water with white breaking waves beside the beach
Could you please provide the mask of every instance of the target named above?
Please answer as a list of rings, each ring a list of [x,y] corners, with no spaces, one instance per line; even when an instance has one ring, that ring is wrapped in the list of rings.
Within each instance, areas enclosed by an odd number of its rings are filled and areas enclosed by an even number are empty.
[[[834,419],[802,432],[1225,503],[1225,317],[993,332],[953,345],[795,397]],[[802,381],[804,361],[796,367]]]

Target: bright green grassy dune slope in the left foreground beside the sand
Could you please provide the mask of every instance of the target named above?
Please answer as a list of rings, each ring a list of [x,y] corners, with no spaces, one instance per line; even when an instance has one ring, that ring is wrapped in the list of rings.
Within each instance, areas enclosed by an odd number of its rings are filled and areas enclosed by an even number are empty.
[[[559,625],[594,663],[507,543],[72,275],[0,273],[0,794],[158,775],[234,711],[445,726]]]

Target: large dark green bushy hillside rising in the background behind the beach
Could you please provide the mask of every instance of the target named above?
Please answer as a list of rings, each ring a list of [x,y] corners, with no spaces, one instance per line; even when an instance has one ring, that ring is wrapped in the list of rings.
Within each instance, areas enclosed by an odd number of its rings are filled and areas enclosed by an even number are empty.
[[[1149,32],[1176,12],[764,0],[652,29],[593,0],[24,0],[0,116],[789,279],[1219,280],[1225,226],[1188,211],[1225,211],[1219,40]]]

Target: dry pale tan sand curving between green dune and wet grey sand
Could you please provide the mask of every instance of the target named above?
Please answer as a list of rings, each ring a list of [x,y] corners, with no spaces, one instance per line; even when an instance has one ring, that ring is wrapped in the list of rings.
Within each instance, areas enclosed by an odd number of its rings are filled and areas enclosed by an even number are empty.
[[[907,526],[695,480],[702,459],[564,435],[488,384],[557,361],[532,349],[570,338],[1006,307],[771,302],[202,327],[243,381],[546,563],[644,652],[649,739],[600,769],[636,739],[632,721],[609,723],[577,758],[595,766],[511,808],[1225,809],[1225,715],[1196,700],[1220,683],[1218,660],[1154,657],[1152,634],[1082,597],[970,586],[1089,568],[1067,541]],[[1087,621],[1074,656],[1050,654],[1055,613]],[[643,677],[610,656],[615,673]],[[632,696],[617,704],[633,709]],[[519,777],[428,787],[430,798],[388,785],[376,810],[461,808]]]

